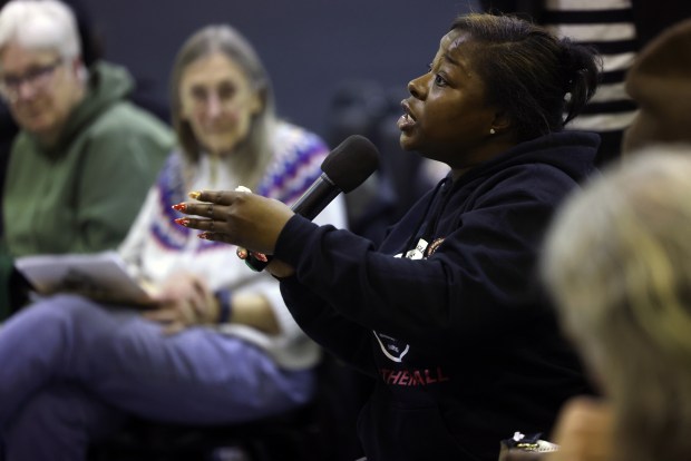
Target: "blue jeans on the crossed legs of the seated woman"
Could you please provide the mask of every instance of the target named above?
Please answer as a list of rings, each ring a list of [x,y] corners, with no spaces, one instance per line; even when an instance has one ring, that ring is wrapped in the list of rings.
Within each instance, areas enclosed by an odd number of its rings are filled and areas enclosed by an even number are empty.
[[[314,385],[312,371],[282,370],[242,340],[207,327],[164,335],[137,312],[74,295],[43,300],[0,326],[6,461],[84,460],[89,441],[125,414],[252,421],[305,403]]]

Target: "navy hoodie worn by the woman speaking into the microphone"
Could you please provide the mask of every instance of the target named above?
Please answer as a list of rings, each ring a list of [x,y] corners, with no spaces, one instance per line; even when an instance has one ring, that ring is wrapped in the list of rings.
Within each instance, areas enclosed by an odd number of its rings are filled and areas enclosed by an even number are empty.
[[[552,134],[447,177],[379,248],[290,219],[275,249],[295,267],[281,282],[289,308],[376,376],[358,423],[369,461],[496,461],[502,439],[547,438],[562,403],[590,391],[536,263],[555,209],[594,171],[597,144]]]

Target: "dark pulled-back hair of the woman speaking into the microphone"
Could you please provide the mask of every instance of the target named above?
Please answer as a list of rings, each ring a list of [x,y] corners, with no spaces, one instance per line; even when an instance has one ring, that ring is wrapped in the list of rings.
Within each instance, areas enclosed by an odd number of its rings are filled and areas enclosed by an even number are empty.
[[[512,16],[459,16],[454,29],[481,45],[471,59],[487,102],[506,111],[519,140],[562,130],[595,94],[601,63],[591,47]]]

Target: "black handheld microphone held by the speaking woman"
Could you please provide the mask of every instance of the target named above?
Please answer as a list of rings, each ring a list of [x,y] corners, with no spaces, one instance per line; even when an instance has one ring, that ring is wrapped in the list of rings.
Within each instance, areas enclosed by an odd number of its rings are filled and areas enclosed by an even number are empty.
[[[295,202],[291,209],[312,220],[340,193],[348,194],[371,176],[379,167],[379,150],[363,136],[352,135],[339,144],[321,164],[322,174],[309,189]],[[259,259],[252,252],[245,264],[253,271],[261,272],[271,262]]]

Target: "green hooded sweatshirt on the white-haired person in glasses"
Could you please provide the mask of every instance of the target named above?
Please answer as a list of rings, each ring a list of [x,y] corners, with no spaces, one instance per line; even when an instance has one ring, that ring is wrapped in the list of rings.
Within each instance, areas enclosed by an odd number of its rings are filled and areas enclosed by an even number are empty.
[[[53,146],[17,135],[2,194],[0,320],[13,258],[100,252],[125,238],[174,145],[169,127],[127,100],[133,89],[127,70],[98,62]]]

